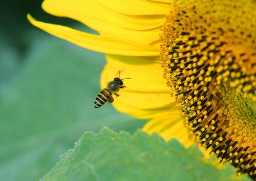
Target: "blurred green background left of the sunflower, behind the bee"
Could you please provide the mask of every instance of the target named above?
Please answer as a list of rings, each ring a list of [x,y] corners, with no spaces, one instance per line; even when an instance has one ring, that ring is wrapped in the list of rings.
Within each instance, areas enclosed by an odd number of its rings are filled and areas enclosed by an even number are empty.
[[[94,108],[104,55],[33,27],[26,14],[93,31],[46,14],[41,2],[0,6],[0,180],[40,179],[84,131],[108,126],[132,133],[144,124],[110,104]]]

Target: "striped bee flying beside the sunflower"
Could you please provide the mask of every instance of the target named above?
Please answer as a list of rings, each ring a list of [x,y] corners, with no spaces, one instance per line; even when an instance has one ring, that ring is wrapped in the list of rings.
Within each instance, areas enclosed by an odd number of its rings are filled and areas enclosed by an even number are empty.
[[[125,79],[131,79],[131,78],[125,78]],[[94,107],[99,108],[102,105],[104,105],[107,101],[109,103],[114,102],[113,94],[118,97],[119,95],[117,94],[120,90],[120,88],[124,88],[125,86],[123,85],[123,80],[120,78],[120,72],[119,72],[119,77],[114,78],[113,81],[110,81],[107,85],[106,88],[102,89],[101,92],[98,94],[94,101]]]

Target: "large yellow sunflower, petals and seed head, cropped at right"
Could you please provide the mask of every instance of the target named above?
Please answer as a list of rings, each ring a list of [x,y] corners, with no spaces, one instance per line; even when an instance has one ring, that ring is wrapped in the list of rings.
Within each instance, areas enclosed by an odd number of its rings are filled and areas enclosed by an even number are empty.
[[[42,8],[99,35],[37,21],[36,27],[105,53],[102,87],[127,88],[113,105],[143,130],[197,143],[255,179],[256,4],[253,1],[60,1]]]

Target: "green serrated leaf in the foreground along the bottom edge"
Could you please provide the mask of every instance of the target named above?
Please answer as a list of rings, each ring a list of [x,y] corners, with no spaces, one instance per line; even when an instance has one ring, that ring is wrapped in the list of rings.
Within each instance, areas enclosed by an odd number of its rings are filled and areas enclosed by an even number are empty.
[[[178,141],[137,131],[86,132],[41,180],[249,180]]]

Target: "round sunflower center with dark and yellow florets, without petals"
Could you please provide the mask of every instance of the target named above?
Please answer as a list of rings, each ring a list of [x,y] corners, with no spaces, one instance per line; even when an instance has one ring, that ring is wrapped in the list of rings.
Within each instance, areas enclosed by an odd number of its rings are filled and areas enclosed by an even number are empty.
[[[166,17],[164,77],[198,143],[255,179],[255,4],[200,3]]]

